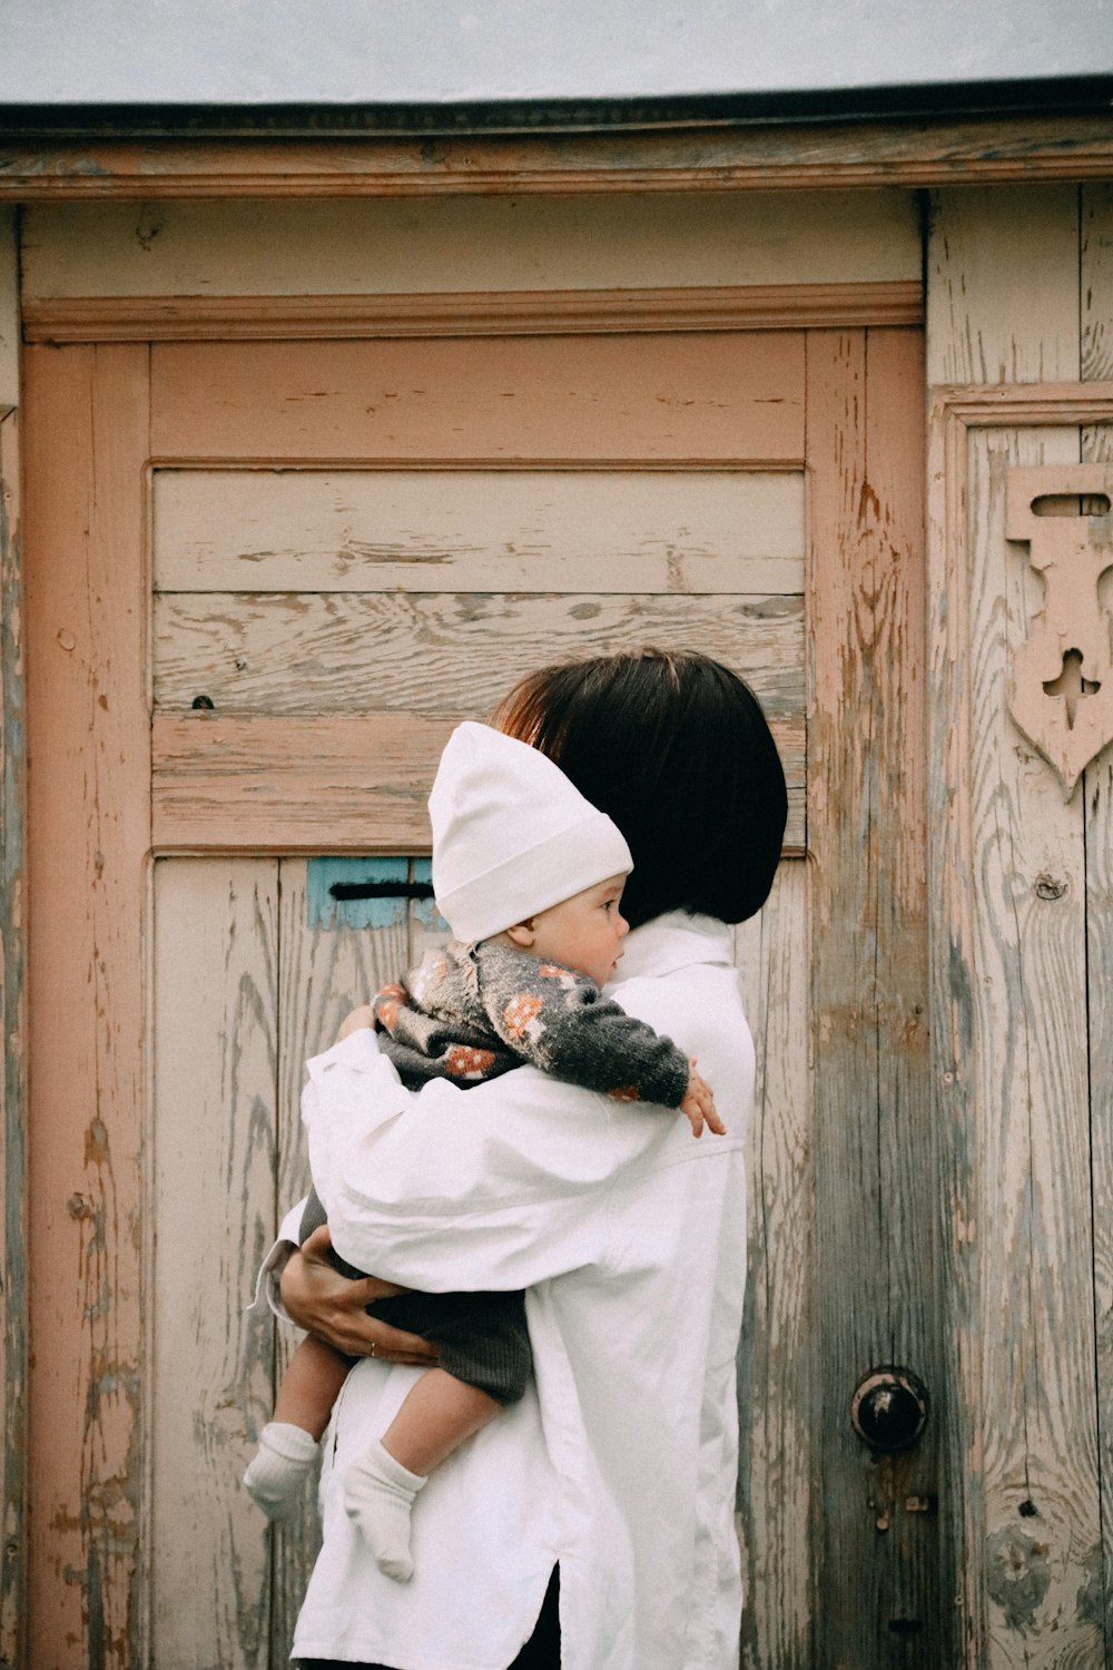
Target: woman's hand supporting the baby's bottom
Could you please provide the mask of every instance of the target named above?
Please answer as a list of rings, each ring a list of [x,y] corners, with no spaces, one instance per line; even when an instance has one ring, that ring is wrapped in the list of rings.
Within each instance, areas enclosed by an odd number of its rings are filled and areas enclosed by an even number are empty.
[[[364,1306],[409,1293],[392,1281],[360,1276],[349,1281],[329,1261],[332,1236],[329,1226],[314,1229],[300,1252],[292,1252],[279,1283],[287,1313],[317,1339],[345,1356],[374,1356],[387,1363],[415,1363],[429,1368],[437,1361],[437,1348],[421,1334],[367,1316]]]

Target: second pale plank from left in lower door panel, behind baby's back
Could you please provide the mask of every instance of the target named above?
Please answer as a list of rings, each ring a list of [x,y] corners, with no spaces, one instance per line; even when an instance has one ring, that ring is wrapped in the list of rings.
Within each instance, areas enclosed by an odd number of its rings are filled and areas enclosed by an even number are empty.
[[[310,860],[312,862],[312,860]],[[300,1121],[305,1060],[327,1049],[349,1009],[367,1002],[382,985],[409,967],[409,907],[405,900],[375,900],[372,925],[350,927],[344,907],[322,915],[307,887],[307,862],[280,862],[280,975],[279,975],[279,1211],[309,1186],[309,1156]],[[277,1329],[275,1368],[280,1374],[295,1334]],[[272,1665],[287,1662],[294,1623],[320,1543],[315,1503],[275,1531],[274,1600],[270,1622]]]

